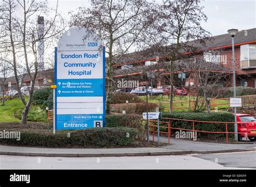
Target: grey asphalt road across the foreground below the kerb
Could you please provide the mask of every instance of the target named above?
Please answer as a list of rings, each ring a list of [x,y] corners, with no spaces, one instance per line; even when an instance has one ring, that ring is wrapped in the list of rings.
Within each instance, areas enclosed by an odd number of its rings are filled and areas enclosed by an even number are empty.
[[[0,169],[234,169],[234,167],[242,169],[246,167],[255,168],[255,154],[255,152],[244,152],[211,155],[129,157],[0,155]],[[216,158],[218,162],[215,162]],[[239,160],[244,160],[244,162],[240,163]]]

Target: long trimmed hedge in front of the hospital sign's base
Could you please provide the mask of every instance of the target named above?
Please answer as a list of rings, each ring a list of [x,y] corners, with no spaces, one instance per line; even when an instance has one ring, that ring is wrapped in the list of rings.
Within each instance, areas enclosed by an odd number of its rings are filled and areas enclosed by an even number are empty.
[[[32,147],[138,147],[145,145],[142,133],[134,128],[88,128],[86,130],[59,130],[53,135],[48,125],[21,127],[20,124],[0,125],[0,131],[20,131],[21,140],[0,139],[0,143]],[[39,126],[39,128],[38,128]],[[18,128],[20,127],[20,128]],[[70,136],[69,136],[70,133]],[[129,134],[128,134],[129,133]]]

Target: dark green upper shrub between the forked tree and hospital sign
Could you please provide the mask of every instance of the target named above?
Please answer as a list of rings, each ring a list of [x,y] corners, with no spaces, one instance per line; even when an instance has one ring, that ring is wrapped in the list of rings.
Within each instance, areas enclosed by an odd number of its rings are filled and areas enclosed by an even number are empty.
[[[49,95],[51,94],[51,89],[50,88],[44,88],[41,90],[36,90],[33,93],[33,99],[32,99],[32,104],[35,105],[42,105],[46,106],[46,101],[48,100]]]

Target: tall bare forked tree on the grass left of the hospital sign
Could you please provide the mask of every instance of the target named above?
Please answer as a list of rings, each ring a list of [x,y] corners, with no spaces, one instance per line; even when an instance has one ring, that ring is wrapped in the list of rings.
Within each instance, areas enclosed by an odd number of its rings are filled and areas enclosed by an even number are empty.
[[[55,9],[49,8],[45,1],[35,0],[3,0],[1,6],[1,44],[6,44],[10,53],[12,67],[14,69],[16,87],[25,108],[22,112],[22,124],[26,124],[35,81],[38,73],[37,51],[40,46],[38,41],[50,40],[64,30],[63,19],[59,15],[58,3]],[[18,12],[18,13],[17,13]],[[44,22],[44,33],[39,34],[37,16],[48,19]],[[25,99],[21,85],[19,85],[18,67],[23,67],[31,81],[28,100]]]

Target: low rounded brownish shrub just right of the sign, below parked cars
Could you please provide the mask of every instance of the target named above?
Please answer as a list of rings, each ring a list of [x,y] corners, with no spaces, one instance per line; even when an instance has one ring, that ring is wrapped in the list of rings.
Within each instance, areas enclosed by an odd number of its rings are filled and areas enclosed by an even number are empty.
[[[143,100],[139,98],[139,96],[134,95],[130,92],[116,92],[112,96],[111,104],[118,104],[118,103],[126,103],[126,100],[129,103],[142,103]]]

